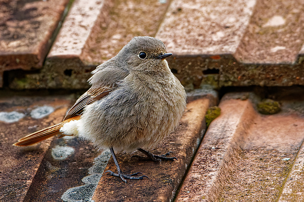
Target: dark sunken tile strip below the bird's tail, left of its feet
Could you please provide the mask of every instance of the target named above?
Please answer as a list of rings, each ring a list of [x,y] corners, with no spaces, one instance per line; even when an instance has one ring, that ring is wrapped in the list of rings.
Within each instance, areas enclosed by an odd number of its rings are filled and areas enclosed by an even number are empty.
[[[89,200],[102,174],[100,153],[76,137],[53,138],[24,201]]]

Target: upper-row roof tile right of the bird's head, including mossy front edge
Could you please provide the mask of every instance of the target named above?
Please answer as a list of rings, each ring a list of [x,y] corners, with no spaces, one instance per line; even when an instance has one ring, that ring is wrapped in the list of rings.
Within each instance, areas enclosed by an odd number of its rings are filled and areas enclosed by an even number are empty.
[[[303,85],[300,4],[297,0],[175,0],[156,37],[174,53],[169,66],[189,90],[204,84],[214,88]],[[278,13],[286,23],[276,26],[270,22],[280,20]],[[298,54],[299,64],[294,63]]]

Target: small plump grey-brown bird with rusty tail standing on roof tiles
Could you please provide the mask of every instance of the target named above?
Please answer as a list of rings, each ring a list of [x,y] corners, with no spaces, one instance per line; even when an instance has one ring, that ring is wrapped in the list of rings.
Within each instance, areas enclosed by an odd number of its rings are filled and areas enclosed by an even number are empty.
[[[153,155],[151,148],[177,126],[186,108],[186,93],[171,72],[165,45],[152,37],[134,37],[120,52],[92,71],[91,88],[81,95],[63,121],[27,135],[15,146],[28,146],[54,135],[78,136],[98,149],[110,149],[118,173],[111,176],[144,179],[124,174],[115,151],[138,150],[154,161],[176,157]],[[147,177],[148,178],[148,177]]]

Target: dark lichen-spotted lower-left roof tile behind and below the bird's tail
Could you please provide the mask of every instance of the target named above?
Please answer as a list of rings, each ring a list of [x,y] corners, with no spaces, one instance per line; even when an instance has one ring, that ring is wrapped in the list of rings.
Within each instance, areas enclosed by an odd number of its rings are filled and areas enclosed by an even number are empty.
[[[80,190],[82,197],[86,196],[85,191],[94,192],[93,182],[97,186],[105,162],[100,155],[102,152],[97,151],[92,143],[76,137],[63,137],[28,147],[12,145],[24,135],[59,123],[72,104],[71,97],[0,99],[0,201],[60,201],[70,188],[74,188],[74,193]],[[22,115],[18,116],[18,113]],[[41,117],[43,114],[47,116]]]

